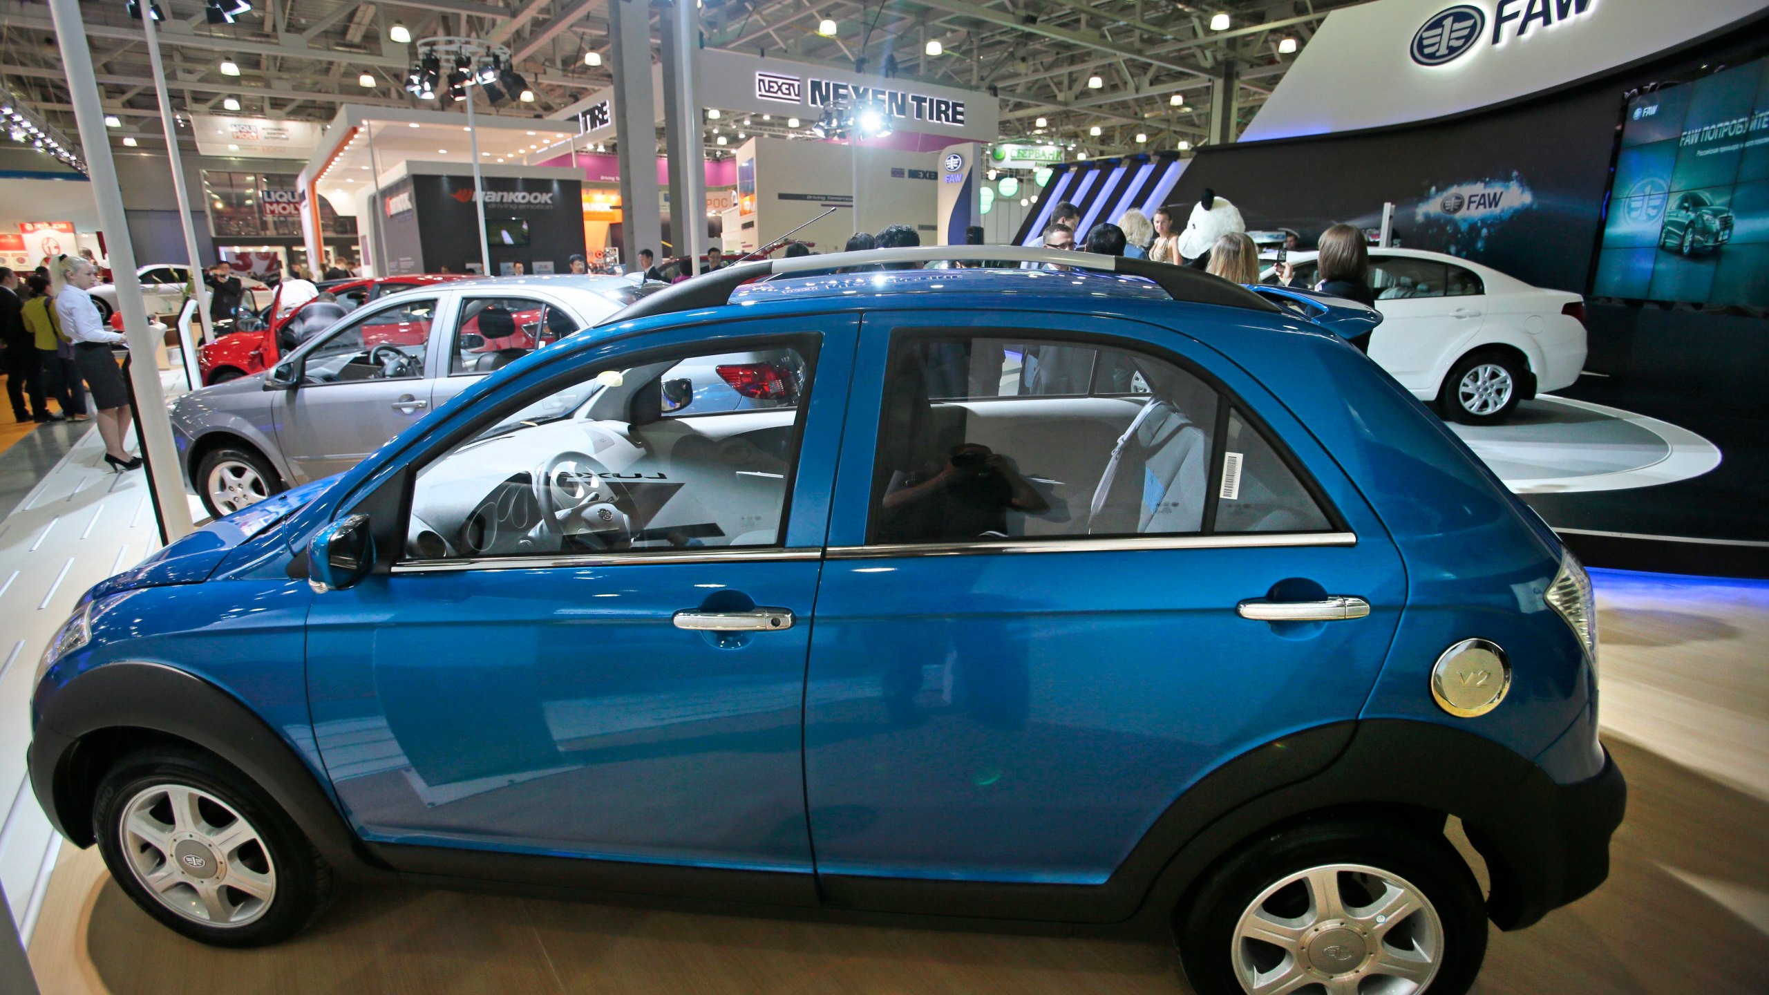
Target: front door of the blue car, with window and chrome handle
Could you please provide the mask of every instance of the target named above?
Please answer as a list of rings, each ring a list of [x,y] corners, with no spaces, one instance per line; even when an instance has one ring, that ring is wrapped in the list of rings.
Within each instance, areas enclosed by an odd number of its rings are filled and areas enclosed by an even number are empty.
[[[856,324],[573,354],[414,460],[400,561],[308,621],[315,735],[357,832],[785,871],[814,899],[803,678]],[[665,384],[725,349],[750,351],[729,375],[778,388],[766,404],[665,413]]]

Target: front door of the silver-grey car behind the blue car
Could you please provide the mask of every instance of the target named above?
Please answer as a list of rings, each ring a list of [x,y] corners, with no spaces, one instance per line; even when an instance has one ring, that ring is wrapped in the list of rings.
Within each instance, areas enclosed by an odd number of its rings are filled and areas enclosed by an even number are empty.
[[[272,404],[276,443],[299,482],[350,469],[425,416],[432,329],[446,303],[442,294],[361,308],[290,359],[301,386]]]

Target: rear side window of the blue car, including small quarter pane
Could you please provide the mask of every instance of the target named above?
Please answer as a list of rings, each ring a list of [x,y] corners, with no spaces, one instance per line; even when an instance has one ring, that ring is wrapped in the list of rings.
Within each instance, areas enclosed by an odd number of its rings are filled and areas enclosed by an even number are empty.
[[[899,333],[869,544],[1325,529],[1277,451],[1143,347]]]

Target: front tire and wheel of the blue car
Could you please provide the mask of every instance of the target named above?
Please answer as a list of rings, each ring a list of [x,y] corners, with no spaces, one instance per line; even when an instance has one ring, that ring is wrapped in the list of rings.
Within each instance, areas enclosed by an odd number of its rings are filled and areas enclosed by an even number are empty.
[[[331,868],[294,820],[232,765],[189,747],[113,765],[94,797],[92,832],[124,894],[218,947],[294,937],[334,892]]]

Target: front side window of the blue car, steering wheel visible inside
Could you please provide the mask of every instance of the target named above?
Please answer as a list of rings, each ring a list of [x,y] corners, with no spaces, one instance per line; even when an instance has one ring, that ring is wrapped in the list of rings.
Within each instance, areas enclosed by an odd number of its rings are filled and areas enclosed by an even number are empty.
[[[780,545],[814,358],[810,336],[644,354],[525,398],[417,473],[405,556]],[[741,393],[731,366],[768,397],[688,418],[709,377]]]

